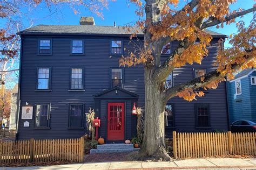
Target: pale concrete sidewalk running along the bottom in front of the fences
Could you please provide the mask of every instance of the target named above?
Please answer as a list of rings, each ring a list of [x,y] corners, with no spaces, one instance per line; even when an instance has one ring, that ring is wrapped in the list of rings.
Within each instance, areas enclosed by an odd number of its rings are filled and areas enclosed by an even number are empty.
[[[173,162],[93,162],[83,164],[0,168],[10,169],[256,169],[256,158],[186,159]]]

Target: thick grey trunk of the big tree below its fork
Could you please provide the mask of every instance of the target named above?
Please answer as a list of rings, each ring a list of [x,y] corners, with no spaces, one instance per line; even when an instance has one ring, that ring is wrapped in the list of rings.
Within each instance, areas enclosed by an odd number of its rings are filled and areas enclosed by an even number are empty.
[[[165,150],[164,111],[166,102],[161,93],[161,84],[154,82],[150,69],[145,68],[145,124],[142,159],[171,160]]]

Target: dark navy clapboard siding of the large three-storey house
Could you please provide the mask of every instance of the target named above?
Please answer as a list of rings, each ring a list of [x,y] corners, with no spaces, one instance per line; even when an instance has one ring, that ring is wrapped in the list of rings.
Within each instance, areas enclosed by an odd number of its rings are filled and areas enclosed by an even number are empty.
[[[18,138],[75,138],[82,136],[86,129],[68,129],[69,103],[84,103],[84,111],[95,107],[93,95],[110,88],[110,68],[119,67],[118,60],[120,56],[110,55],[111,37],[79,37],[85,42],[84,55],[70,55],[71,39],[78,37],[61,37],[52,38],[52,55],[37,55],[38,37],[23,36],[22,66],[21,66],[21,106],[35,103],[51,103],[50,130],[34,129],[34,118],[32,120],[21,120],[19,116]],[[129,44],[129,38],[113,37],[113,39],[122,39],[127,54],[134,49],[132,43]],[[172,48],[176,47],[178,42],[172,43]],[[218,39],[213,39],[212,45],[208,47],[209,54],[203,60],[202,65],[187,65],[176,68],[173,71],[174,84],[177,85],[193,78],[193,68],[206,68],[210,72],[215,67],[212,66],[215,56],[218,52]],[[162,60],[166,56],[162,56]],[[51,92],[38,92],[36,89],[37,68],[51,67]],[[84,68],[84,92],[68,91],[70,83],[70,68]],[[143,66],[124,68],[124,89],[139,95],[137,106],[144,108],[145,89],[144,89],[144,72]],[[186,102],[181,98],[174,97],[169,103],[174,104],[174,117],[176,127],[166,130],[167,136],[171,136],[172,130],[185,131],[212,131],[214,129],[227,130],[227,108],[226,108],[226,91],[225,83],[215,90],[207,90],[204,97],[198,98],[197,101]],[[100,118],[102,127],[100,134],[106,134],[106,100],[101,101],[97,107],[100,108]],[[126,102],[126,116],[131,116],[132,103]],[[211,128],[207,130],[195,128],[195,103],[210,104]],[[104,111],[105,110],[105,111]],[[21,112],[20,112],[21,114]],[[23,127],[23,122],[30,122],[29,128]],[[85,122],[85,117],[84,117]],[[135,121],[136,122],[136,121]],[[131,138],[136,133],[136,123],[133,118],[127,119],[126,138]],[[129,132],[130,131],[130,132]]]

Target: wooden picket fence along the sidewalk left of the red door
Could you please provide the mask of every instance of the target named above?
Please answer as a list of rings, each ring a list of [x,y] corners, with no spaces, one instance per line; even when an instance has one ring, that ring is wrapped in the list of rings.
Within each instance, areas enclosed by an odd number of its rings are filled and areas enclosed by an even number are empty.
[[[83,162],[84,138],[18,140],[0,143],[0,165],[26,162]]]

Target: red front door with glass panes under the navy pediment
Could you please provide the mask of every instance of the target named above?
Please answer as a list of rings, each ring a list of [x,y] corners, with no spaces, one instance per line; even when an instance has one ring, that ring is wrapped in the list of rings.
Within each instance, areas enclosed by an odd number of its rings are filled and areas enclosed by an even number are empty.
[[[107,140],[124,140],[124,103],[107,104]]]

